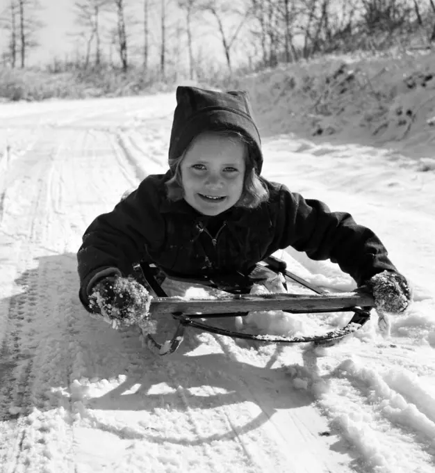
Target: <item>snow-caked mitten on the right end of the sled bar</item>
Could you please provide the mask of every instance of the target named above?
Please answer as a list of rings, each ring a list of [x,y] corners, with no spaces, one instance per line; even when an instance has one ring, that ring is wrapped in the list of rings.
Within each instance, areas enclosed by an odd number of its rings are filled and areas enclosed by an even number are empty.
[[[411,303],[411,288],[407,278],[400,273],[383,271],[372,276],[366,285],[375,299],[377,312],[402,314]]]

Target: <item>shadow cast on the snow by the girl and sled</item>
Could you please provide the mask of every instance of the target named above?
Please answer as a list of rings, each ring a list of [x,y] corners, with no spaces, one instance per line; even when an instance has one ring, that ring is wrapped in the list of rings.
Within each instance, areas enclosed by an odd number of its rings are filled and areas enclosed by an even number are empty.
[[[161,357],[142,347],[136,328],[117,332],[81,307],[74,253],[39,257],[37,262],[15,280],[19,294],[0,306],[6,307],[1,318],[8,320],[0,358],[3,421],[28,415],[33,408],[44,412],[64,407],[72,414],[72,424],[79,412],[82,419],[120,438],[195,445],[236,438],[268,422],[279,410],[314,402],[309,393],[291,386],[288,367],[273,367],[281,346],[263,362],[264,355],[256,356],[255,346],[245,341],[189,329],[179,351]],[[172,335],[172,321],[159,325]],[[309,364],[306,369],[315,369],[315,360]],[[74,380],[81,383],[83,395],[74,396]],[[249,403],[260,410],[256,417],[248,416],[245,425],[196,439],[191,433],[189,438],[168,437],[167,432],[154,435],[158,426],[143,422],[140,431],[118,428],[97,415],[103,410],[241,410]]]

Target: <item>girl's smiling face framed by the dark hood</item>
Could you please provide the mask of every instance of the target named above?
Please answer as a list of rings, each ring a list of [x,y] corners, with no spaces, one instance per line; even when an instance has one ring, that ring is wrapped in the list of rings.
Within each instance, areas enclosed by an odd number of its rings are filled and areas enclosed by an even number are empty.
[[[195,138],[181,161],[184,200],[214,216],[233,207],[243,193],[246,145],[215,133]]]

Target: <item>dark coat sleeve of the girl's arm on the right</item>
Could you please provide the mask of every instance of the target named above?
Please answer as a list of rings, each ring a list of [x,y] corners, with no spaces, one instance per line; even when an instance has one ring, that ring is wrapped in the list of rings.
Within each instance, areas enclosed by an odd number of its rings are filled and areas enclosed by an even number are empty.
[[[304,199],[286,186],[279,192],[280,248],[292,246],[311,259],[330,259],[358,285],[384,270],[397,271],[377,235],[350,214],[331,212],[320,200]]]

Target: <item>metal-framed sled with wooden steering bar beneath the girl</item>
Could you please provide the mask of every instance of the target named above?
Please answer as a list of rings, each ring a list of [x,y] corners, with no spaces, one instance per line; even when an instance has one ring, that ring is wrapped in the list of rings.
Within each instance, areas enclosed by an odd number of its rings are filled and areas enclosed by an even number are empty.
[[[159,344],[147,334],[147,342],[158,348],[161,355],[173,353],[183,341],[186,327],[197,328],[217,335],[228,337],[256,340],[267,343],[306,343],[314,342],[317,345],[327,346],[336,340],[350,335],[359,330],[369,319],[370,310],[373,307],[373,299],[370,294],[348,293],[331,294],[313,286],[306,280],[287,270],[286,263],[276,257],[264,259],[265,266],[274,273],[281,273],[284,278],[293,280],[302,286],[311,289],[315,294],[261,294],[249,295],[249,288],[245,284],[234,281],[215,281],[211,279],[188,280],[199,282],[207,287],[221,289],[230,293],[229,296],[222,296],[210,299],[194,299],[181,297],[168,297],[162,289],[161,284],[156,280],[154,268],[148,264],[140,264],[142,275],[149,288],[154,291],[155,297],[151,299],[149,312],[151,316],[158,317],[162,314],[172,314],[172,317],[179,322],[172,337],[164,344]],[[287,280],[287,279],[286,279]],[[252,285],[252,284],[251,284]],[[340,329],[331,330],[322,335],[311,337],[281,337],[273,335],[252,335],[243,332],[225,330],[199,321],[198,319],[208,319],[217,317],[246,316],[251,311],[283,310],[292,314],[300,313],[320,313],[320,312],[353,312],[350,321]]]

